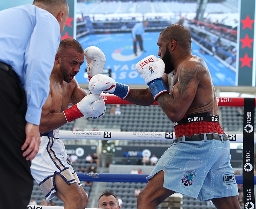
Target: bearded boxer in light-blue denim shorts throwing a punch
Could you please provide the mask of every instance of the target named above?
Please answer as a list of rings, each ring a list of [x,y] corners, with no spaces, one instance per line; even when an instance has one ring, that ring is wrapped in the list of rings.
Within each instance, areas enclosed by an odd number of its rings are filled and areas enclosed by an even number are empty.
[[[113,79],[95,75],[91,92],[113,93],[137,105],[155,101],[173,121],[176,138],[158,160],[138,196],[138,209],[156,208],[179,192],[201,201],[212,200],[218,209],[240,209],[228,136],[220,127],[215,89],[209,69],[192,54],[187,28],[174,24],[164,29],[154,55],[135,66],[148,85],[130,89]],[[231,178],[226,181],[225,176]]]

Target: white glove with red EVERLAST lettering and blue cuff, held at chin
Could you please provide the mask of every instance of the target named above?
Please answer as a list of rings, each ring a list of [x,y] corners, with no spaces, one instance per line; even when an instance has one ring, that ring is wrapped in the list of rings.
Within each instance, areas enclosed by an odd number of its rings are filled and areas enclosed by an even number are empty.
[[[150,55],[140,60],[135,68],[144,78],[155,100],[160,94],[169,92],[163,82],[165,65],[162,59]]]

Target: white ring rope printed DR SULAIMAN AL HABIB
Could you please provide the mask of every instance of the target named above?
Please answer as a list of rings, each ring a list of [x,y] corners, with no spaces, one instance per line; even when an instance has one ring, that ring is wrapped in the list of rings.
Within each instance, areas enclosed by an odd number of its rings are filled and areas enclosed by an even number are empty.
[[[243,143],[243,134],[227,134],[230,142]],[[152,140],[173,141],[174,132],[132,132],[132,131],[59,131],[60,139],[101,140]],[[256,134],[254,135],[256,143]]]

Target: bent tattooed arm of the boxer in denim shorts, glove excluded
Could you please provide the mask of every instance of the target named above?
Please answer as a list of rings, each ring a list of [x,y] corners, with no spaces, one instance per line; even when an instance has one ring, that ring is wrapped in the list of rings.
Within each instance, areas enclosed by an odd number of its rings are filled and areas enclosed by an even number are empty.
[[[191,104],[193,103],[194,105],[195,102],[193,101],[196,97],[198,86],[201,85],[202,82],[209,83],[206,83],[204,88],[208,88],[209,85],[212,85],[206,65],[204,66],[204,63],[198,60],[189,60],[182,66],[179,66],[176,75],[174,74],[169,82],[171,82],[169,84],[171,87],[170,94],[161,94],[157,97],[157,102],[163,112],[173,122],[182,119],[182,117],[188,112]],[[207,96],[204,95],[200,98],[204,100],[204,97]],[[198,99],[198,97],[196,98]],[[198,105],[198,112],[201,112],[200,105],[203,104],[204,101],[202,101],[202,103],[198,101],[196,102],[196,105]],[[205,101],[205,103],[208,103],[208,101]]]

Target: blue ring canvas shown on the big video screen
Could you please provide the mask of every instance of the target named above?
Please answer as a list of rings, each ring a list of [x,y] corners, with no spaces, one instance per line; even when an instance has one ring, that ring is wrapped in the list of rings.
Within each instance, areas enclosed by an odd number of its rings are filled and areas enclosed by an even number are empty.
[[[129,33],[88,35],[78,39],[83,48],[88,46],[99,47],[106,56],[106,69],[112,70],[112,78],[117,82],[125,84],[145,84],[144,80],[137,73],[135,65],[148,55],[157,57],[157,40],[160,32],[148,32],[144,36],[143,46],[146,52],[142,53],[138,48],[137,57],[133,54],[132,37]],[[225,67],[211,55],[201,54],[200,48],[192,43],[192,53],[203,58],[208,65],[212,75],[214,86],[235,86],[236,74]],[[80,72],[76,75],[79,83],[88,83],[85,73],[86,63],[81,66]]]

